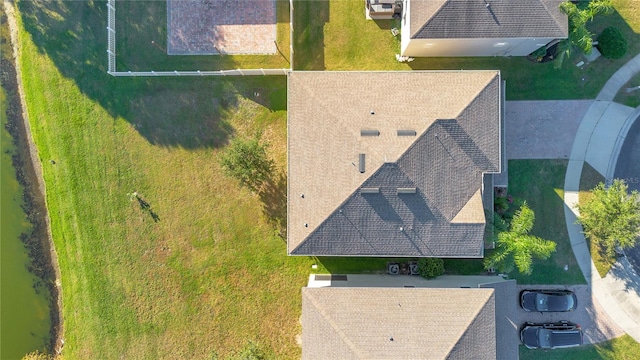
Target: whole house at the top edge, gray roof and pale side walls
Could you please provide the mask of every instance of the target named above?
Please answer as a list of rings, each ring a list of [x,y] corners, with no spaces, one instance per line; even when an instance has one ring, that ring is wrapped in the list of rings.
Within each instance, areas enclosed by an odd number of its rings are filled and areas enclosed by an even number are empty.
[[[569,35],[560,0],[404,0],[401,55],[526,56]]]

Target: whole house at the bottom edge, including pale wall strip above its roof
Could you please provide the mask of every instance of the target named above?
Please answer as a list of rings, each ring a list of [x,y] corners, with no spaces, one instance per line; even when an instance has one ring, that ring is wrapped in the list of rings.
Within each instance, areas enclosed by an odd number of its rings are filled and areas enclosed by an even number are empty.
[[[311,274],[303,359],[498,359],[519,353],[515,280]]]

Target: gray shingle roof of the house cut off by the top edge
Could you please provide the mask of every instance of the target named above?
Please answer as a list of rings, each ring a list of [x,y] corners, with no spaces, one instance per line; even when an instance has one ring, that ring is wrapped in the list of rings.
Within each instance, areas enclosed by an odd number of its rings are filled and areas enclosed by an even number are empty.
[[[566,38],[569,25],[560,3],[559,0],[410,0],[411,38]]]

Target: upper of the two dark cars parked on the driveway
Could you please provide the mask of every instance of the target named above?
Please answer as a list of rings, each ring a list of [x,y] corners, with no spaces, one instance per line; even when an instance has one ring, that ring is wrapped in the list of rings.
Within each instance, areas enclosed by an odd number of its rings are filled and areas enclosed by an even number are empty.
[[[572,311],[578,299],[569,290],[522,290],[520,306],[526,311]]]

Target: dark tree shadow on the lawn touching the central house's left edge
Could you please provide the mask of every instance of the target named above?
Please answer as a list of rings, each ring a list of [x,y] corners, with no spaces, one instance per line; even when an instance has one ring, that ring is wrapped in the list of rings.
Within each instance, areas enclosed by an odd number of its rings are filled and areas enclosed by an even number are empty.
[[[287,238],[287,176],[284,172],[273,173],[262,185],[259,194],[262,212],[267,222],[280,237]]]

